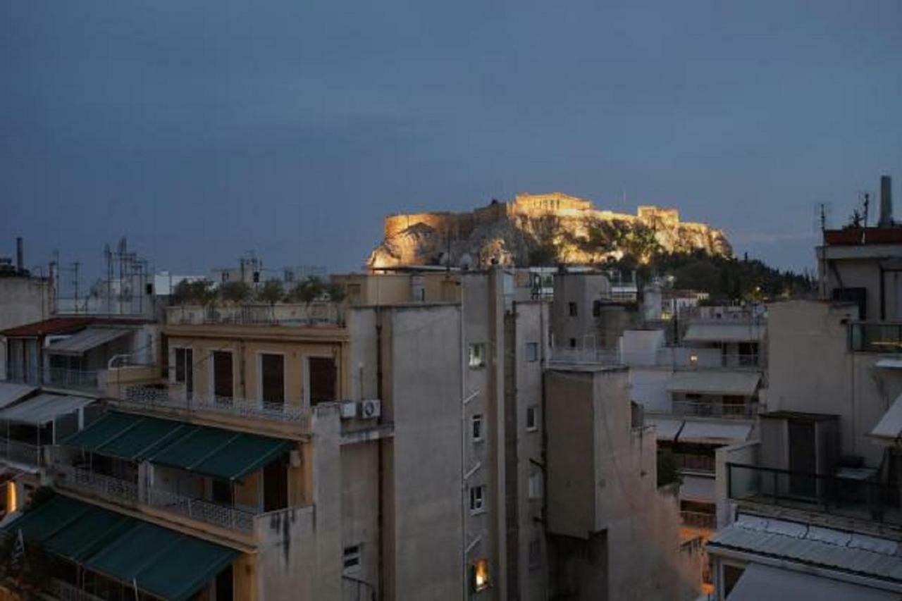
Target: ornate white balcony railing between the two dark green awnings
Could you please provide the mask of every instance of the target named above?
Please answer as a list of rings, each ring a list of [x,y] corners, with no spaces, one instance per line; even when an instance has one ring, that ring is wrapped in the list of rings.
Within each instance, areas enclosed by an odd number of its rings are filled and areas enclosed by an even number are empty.
[[[57,476],[56,485],[61,488],[99,496],[121,504],[149,505],[227,530],[253,532],[255,513],[243,509],[178,495],[151,485],[144,487],[142,495],[140,486],[136,482],[96,474],[78,467],[55,464],[52,472]]]

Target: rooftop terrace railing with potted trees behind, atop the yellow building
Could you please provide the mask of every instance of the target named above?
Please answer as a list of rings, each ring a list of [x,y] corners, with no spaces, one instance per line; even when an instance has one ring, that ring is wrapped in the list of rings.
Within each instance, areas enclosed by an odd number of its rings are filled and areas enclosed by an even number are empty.
[[[344,315],[338,303],[327,301],[316,301],[308,304],[248,304],[235,307],[200,307],[190,305],[167,308],[166,323],[178,326],[204,324],[242,326],[335,326],[344,323]]]

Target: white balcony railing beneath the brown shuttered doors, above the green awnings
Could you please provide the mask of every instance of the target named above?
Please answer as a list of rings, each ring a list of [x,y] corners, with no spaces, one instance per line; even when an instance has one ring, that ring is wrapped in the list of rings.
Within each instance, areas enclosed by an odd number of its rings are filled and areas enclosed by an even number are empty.
[[[160,408],[189,413],[209,412],[239,418],[282,421],[299,424],[304,430],[308,429],[310,419],[308,409],[289,403],[252,401],[202,394],[179,398],[165,389],[144,385],[128,386],[120,401],[143,409]]]

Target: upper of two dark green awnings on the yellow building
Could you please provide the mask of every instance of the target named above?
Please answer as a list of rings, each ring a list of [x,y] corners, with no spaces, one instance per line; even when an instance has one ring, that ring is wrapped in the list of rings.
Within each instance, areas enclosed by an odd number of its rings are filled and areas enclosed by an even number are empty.
[[[285,439],[118,411],[107,412],[62,444],[226,480],[241,479],[294,446]]]

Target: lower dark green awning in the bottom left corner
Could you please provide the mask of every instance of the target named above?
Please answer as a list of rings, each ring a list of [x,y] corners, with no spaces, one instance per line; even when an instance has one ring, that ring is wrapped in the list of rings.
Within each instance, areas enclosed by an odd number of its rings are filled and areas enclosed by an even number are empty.
[[[56,495],[5,526],[52,553],[172,601],[216,578],[238,551]]]

